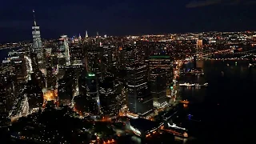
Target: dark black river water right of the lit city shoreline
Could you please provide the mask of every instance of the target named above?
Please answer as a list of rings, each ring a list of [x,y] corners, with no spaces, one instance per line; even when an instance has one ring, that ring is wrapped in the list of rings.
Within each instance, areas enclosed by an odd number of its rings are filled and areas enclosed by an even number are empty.
[[[207,88],[181,88],[179,91],[183,99],[190,101],[189,113],[202,120],[198,126],[188,124],[202,143],[222,143],[223,140],[243,143],[250,138],[249,131],[254,126],[254,103],[251,102],[254,102],[256,69],[248,64],[246,61],[237,64],[234,61],[199,61],[197,66],[204,70],[204,77],[180,78],[209,83]],[[189,62],[185,66],[193,64]]]

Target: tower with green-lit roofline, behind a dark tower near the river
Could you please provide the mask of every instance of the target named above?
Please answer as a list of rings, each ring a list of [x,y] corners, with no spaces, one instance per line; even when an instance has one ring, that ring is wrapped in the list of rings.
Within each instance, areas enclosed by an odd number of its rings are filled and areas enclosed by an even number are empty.
[[[160,68],[166,71],[166,86],[170,86],[172,82],[172,67],[170,56],[167,55],[150,55],[149,58],[150,70]]]

